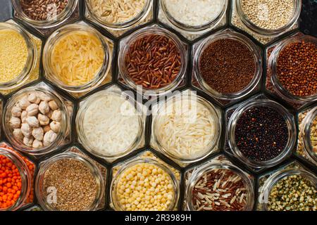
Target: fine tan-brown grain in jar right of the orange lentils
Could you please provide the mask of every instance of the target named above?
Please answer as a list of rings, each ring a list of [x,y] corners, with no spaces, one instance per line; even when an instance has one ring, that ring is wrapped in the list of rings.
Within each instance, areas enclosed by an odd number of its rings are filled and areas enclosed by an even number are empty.
[[[44,174],[43,186],[45,193],[48,188],[56,188],[56,203],[51,203],[51,207],[59,211],[87,210],[98,191],[89,167],[80,160],[69,158],[50,165]]]

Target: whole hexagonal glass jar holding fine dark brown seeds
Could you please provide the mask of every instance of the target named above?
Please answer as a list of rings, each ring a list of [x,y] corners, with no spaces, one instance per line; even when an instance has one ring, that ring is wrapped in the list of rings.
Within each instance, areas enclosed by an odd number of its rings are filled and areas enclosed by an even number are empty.
[[[228,86],[232,85],[232,86],[238,86],[237,83],[235,84],[230,84],[228,82],[228,84],[226,85],[227,87],[225,90],[228,93],[223,94],[220,93],[220,91],[217,91],[215,89],[213,89],[208,82],[206,82],[206,80],[204,79],[204,76],[209,77],[209,75],[203,75],[201,72],[201,60],[204,60],[204,58],[201,58],[204,55],[208,56],[208,53],[211,48],[211,46],[215,43],[220,43],[218,41],[223,41],[223,43],[225,43],[225,41],[228,41],[227,45],[230,48],[230,43],[233,47],[233,45],[236,48],[239,49],[244,49],[246,52],[245,54],[248,54],[248,58],[251,57],[253,59],[251,59],[252,62],[254,63],[250,63],[249,60],[248,61],[244,61],[244,63],[246,65],[246,68],[244,71],[247,70],[247,68],[251,68],[251,64],[254,65],[254,74],[253,76],[250,77],[245,77],[245,79],[248,79],[248,82],[244,82],[242,89],[237,91],[235,90],[234,92],[231,91],[231,88],[229,88]],[[230,41],[230,42],[229,42]],[[232,41],[232,42],[231,42]],[[238,45],[239,44],[239,45]],[[219,44],[217,44],[219,45]],[[229,51],[229,50],[228,50]],[[240,50],[242,51],[242,50]],[[206,39],[199,41],[197,44],[194,45],[193,48],[193,54],[194,54],[194,63],[193,63],[193,77],[192,77],[192,83],[194,86],[197,86],[199,89],[203,90],[204,92],[206,92],[207,94],[209,94],[210,96],[213,96],[213,98],[216,98],[220,103],[225,104],[225,103],[230,103],[232,101],[238,101],[242,98],[244,98],[245,96],[251,94],[252,92],[256,91],[256,89],[259,89],[259,82],[261,80],[261,75],[262,75],[262,56],[261,56],[261,49],[256,46],[256,44],[254,44],[254,42],[252,42],[249,38],[247,38],[246,36],[244,36],[243,34],[234,32],[232,30],[223,30],[221,32],[217,32],[216,34],[211,35],[210,37],[207,37]],[[244,54],[244,58],[246,58],[247,56],[245,56]],[[230,60],[230,55],[228,53],[223,53],[223,55],[218,55],[218,56],[213,56],[213,57],[220,57],[219,60]],[[215,60],[214,63],[218,64],[218,62],[216,62],[217,60]],[[237,63],[234,62],[234,60],[231,60],[232,62],[232,67],[233,63]],[[228,64],[230,63],[230,61],[228,61]],[[241,65],[242,60],[239,60],[239,64]],[[208,67],[211,68],[217,68],[217,65],[210,65],[210,61],[209,61],[209,65]],[[234,68],[237,68],[239,65],[236,65]],[[209,71],[211,69],[209,68]],[[215,69],[217,70],[217,69]],[[219,70],[219,68],[218,68]],[[228,68],[225,68],[223,70],[227,70],[227,72],[224,73],[228,73],[229,76],[229,71]],[[219,70],[220,71],[220,70]],[[231,72],[231,71],[230,71]],[[206,73],[206,71],[205,71]],[[234,75],[236,74],[236,72],[233,72]],[[246,72],[244,72],[246,73]],[[214,78],[211,78],[212,80]],[[225,79],[231,79],[231,77],[227,77]],[[237,79],[242,79],[241,77],[237,77]],[[223,85],[223,83],[221,81],[219,81],[219,84]],[[213,85],[216,85],[216,82],[213,81]],[[242,84],[239,84],[239,86],[242,86]],[[223,89],[223,88],[222,88]],[[236,89],[236,88],[235,88]],[[230,93],[232,92],[232,93]]]

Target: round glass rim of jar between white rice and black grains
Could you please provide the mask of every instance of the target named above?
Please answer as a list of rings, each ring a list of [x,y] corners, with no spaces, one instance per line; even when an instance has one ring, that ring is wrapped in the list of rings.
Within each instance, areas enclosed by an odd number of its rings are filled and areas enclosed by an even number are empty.
[[[197,103],[199,103],[200,105],[203,105],[204,108],[208,109],[209,112],[211,113],[211,117],[213,117],[213,121],[214,121],[214,126],[216,127],[215,129],[215,135],[213,136],[213,139],[211,141],[209,141],[208,146],[206,146],[206,148],[204,149],[204,151],[201,151],[201,153],[199,153],[199,155],[194,156],[194,157],[181,157],[180,155],[175,155],[173,153],[170,152],[170,150],[168,150],[168,147],[166,147],[166,145],[164,143],[161,142],[161,139],[159,138],[159,135],[157,134],[157,129],[159,129],[158,124],[159,124],[159,120],[160,120],[160,111],[165,108],[166,105],[168,105],[170,103],[170,101],[174,102],[173,100],[175,98],[177,98],[178,96],[170,96],[169,98],[166,99],[166,101],[164,101],[164,103],[162,103],[159,108],[158,108],[158,115],[154,116],[153,118],[153,122],[152,122],[152,134],[154,137],[154,141],[156,142],[158,148],[166,155],[168,155],[170,158],[173,158],[174,160],[180,160],[181,162],[184,163],[190,163],[190,162],[198,162],[199,160],[202,160],[206,157],[208,157],[209,155],[211,155],[211,153],[213,153],[214,148],[216,148],[216,145],[220,139],[220,133],[221,133],[221,125],[220,125],[220,117],[216,111],[216,108],[213,106],[213,104],[211,104],[209,101],[207,101],[205,98],[202,98],[201,96],[198,95],[194,95],[194,99],[197,99]],[[178,101],[193,101],[192,99],[192,95],[191,96],[180,96],[180,99]],[[172,103],[173,104],[173,103]]]

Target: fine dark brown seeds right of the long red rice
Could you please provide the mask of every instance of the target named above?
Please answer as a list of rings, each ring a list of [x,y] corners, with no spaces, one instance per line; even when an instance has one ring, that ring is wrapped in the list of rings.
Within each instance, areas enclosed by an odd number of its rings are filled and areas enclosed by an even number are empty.
[[[256,72],[253,53],[234,39],[219,39],[208,44],[199,57],[198,66],[206,84],[220,94],[242,91]]]

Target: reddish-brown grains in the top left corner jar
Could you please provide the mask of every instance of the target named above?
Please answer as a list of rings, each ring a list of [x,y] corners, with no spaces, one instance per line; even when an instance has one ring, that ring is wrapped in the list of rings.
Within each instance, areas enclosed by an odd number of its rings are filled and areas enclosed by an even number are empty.
[[[54,20],[63,12],[68,0],[21,0],[23,13],[32,20]]]

